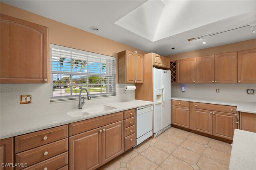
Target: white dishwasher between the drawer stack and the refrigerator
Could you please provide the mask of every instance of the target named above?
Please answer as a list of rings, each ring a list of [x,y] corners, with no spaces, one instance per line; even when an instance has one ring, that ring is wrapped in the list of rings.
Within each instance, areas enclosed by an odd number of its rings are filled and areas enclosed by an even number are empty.
[[[153,105],[136,110],[136,145],[153,135]]]

